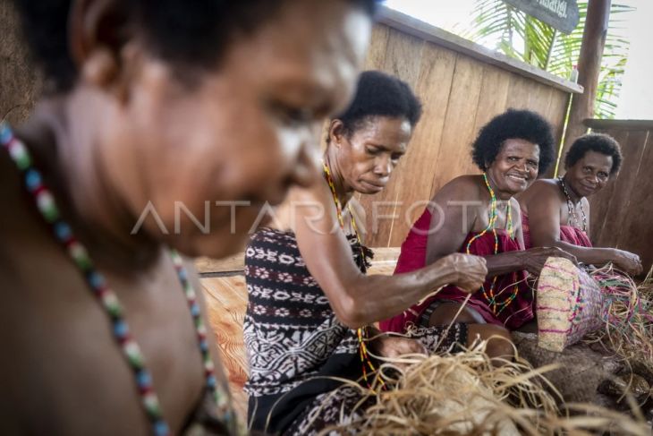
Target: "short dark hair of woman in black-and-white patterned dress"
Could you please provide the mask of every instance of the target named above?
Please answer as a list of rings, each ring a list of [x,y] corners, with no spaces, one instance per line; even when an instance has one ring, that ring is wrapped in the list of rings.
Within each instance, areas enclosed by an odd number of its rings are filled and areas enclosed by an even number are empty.
[[[360,73],[356,95],[340,115],[334,117],[343,123],[343,133],[351,136],[370,116],[402,117],[411,127],[420,121],[420,99],[405,82],[380,71]]]

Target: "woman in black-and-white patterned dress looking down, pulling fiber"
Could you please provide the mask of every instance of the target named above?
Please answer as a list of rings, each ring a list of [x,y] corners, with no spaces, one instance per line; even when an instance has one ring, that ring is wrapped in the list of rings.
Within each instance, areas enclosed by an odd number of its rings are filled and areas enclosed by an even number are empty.
[[[292,189],[275,226],[252,236],[244,322],[252,431],[316,434],[342,423],[342,416],[364,413],[365,406],[352,414],[360,391],[335,390],[342,384],[335,378],[370,382],[368,372],[377,364],[371,353],[394,357],[466,342],[462,324],[446,332],[423,329],[421,342],[369,340],[376,332],[364,328],[439,286],[475,289],[487,272],[483,259],[454,253],[409,274],[365,275],[369,250],[357,227],[364,218],[352,195],[384,188],[420,114],[420,102],[403,81],[362,73],[351,107],[329,125],[324,183]]]

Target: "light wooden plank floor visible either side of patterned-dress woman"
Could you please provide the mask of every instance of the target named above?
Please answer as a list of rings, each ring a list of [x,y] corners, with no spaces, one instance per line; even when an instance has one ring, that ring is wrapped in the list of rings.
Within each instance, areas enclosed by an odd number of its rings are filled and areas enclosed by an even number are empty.
[[[391,275],[398,248],[374,249],[375,260],[369,274]],[[247,356],[242,339],[242,322],[247,309],[247,287],[242,274],[244,255],[215,261],[201,258],[195,266],[201,275],[201,285],[208,307],[208,323],[216,335],[220,359],[229,378],[236,414],[245,422],[247,395],[242,387],[247,380]],[[219,277],[216,277],[219,276]]]

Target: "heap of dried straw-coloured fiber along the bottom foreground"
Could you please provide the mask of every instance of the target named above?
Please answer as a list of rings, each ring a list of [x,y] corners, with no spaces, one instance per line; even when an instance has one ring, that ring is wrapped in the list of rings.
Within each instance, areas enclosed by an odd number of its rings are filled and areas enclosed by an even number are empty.
[[[382,365],[389,389],[377,380],[372,389],[343,380],[360,389],[363,404],[373,405],[346,425],[320,434],[433,434],[433,435],[585,435],[614,432],[650,434],[646,423],[592,405],[574,405],[582,415],[570,416],[557,406],[560,398],[542,388],[547,380],[522,358],[494,367],[485,354],[485,342],[451,355],[405,355]],[[391,374],[394,374],[391,375]],[[555,389],[554,389],[555,390]],[[360,411],[359,411],[360,412]]]

